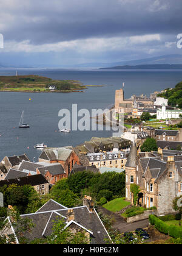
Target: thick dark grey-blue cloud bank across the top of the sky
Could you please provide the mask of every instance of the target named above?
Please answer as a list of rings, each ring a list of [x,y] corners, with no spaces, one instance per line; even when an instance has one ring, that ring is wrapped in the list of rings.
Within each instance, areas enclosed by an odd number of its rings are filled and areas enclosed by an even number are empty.
[[[1,1],[5,40],[32,44],[181,32],[181,0]]]

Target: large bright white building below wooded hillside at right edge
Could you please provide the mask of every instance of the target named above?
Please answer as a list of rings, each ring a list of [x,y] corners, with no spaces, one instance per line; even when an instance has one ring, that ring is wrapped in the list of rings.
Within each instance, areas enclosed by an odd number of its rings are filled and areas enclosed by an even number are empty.
[[[164,104],[161,109],[157,109],[157,119],[180,118],[180,114],[182,115],[182,110],[166,110],[166,105]]]

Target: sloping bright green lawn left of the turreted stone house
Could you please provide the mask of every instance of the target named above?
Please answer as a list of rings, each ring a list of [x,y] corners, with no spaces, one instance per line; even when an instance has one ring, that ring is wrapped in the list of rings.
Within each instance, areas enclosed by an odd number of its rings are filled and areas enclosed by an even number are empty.
[[[124,198],[116,198],[107,204],[104,204],[103,207],[111,212],[116,212],[122,210],[127,205],[130,205],[130,202],[124,200]]]

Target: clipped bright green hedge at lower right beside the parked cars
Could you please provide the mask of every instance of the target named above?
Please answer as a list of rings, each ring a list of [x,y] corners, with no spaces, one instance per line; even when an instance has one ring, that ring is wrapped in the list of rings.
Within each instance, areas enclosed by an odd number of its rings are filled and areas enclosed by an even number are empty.
[[[182,238],[182,229],[181,227],[177,227],[175,225],[168,225],[164,221],[161,221],[155,215],[149,215],[150,224],[154,225],[156,229],[158,229],[161,233],[166,235],[170,235],[174,238]]]

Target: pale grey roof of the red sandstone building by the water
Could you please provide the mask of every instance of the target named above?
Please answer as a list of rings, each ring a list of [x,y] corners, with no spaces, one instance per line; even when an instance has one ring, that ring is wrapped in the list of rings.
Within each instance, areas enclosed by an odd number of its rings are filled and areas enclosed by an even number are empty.
[[[69,158],[70,154],[72,154],[73,148],[72,146],[64,147],[64,148],[48,148],[44,149],[42,154],[39,156],[41,159],[45,160],[61,160],[66,161]]]

